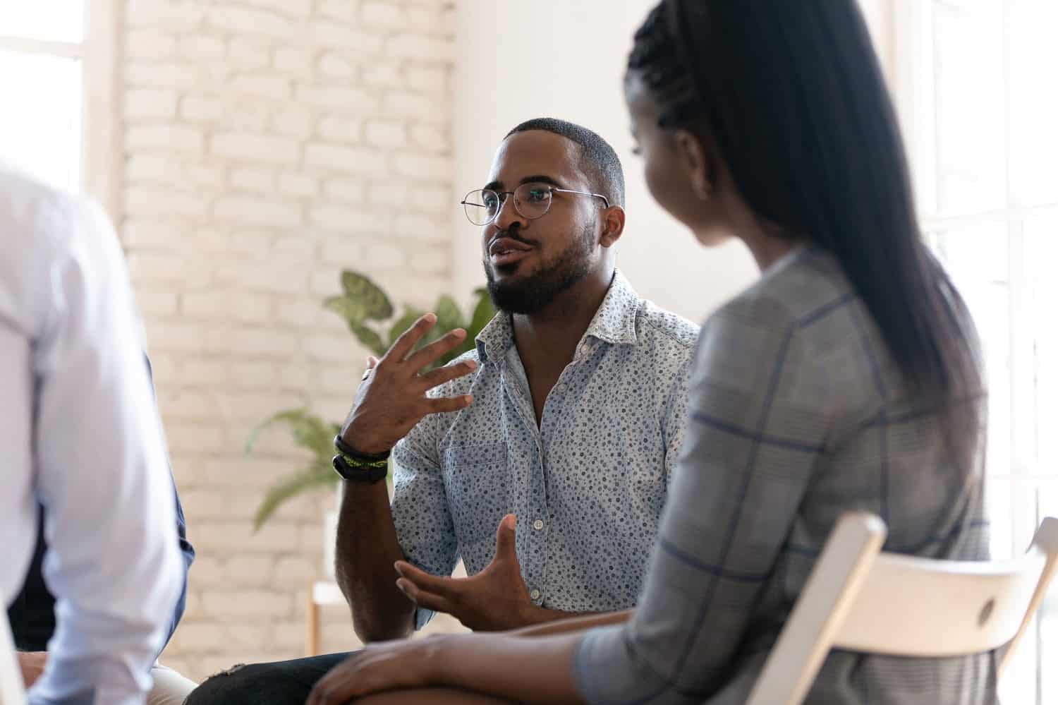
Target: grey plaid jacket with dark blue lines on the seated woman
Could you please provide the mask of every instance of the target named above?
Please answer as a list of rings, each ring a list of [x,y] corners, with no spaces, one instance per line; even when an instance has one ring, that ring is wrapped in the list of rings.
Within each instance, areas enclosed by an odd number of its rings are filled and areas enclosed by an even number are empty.
[[[696,355],[639,609],[578,649],[591,703],[744,702],[847,509],[886,521],[884,550],[987,558],[981,454],[949,462],[829,255],[769,268],[707,322]],[[995,659],[835,651],[806,702],[993,703]]]

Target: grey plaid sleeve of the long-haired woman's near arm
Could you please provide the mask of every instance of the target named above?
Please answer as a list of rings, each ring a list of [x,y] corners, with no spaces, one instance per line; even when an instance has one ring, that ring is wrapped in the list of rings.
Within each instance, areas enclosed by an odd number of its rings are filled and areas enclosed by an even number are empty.
[[[829,426],[826,379],[770,300],[738,299],[710,319],[690,398],[640,607],[578,648],[591,703],[698,703],[734,675]]]

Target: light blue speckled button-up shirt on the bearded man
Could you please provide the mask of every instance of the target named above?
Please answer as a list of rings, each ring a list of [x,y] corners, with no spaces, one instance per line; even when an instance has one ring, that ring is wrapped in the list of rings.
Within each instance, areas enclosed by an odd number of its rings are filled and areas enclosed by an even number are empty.
[[[537,427],[510,318],[498,314],[468,354],[475,373],[434,392],[474,403],[427,416],[395,449],[393,513],[408,560],[450,575],[461,557],[474,575],[513,512],[536,604],[635,605],[683,439],[697,333],[618,272]]]

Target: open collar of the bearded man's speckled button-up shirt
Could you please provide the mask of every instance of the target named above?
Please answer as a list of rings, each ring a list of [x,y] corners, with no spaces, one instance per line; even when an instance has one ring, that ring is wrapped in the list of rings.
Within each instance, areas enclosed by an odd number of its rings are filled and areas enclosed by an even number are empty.
[[[602,305],[596,311],[588,329],[581,339],[582,343],[578,347],[580,351],[585,348],[584,342],[589,339],[597,339],[612,345],[635,345],[636,338],[636,315],[639,312],[639,295],[632,288],[628,279],[620,270],[614,272],[614,281],[610,282]],[[500,311],[489,322],[475,341],[477,343],[478,360],[484,364],[489,360],[499,360],[507,354],[507,350],[514,345],[514,327],[511,324],[511,317]]]

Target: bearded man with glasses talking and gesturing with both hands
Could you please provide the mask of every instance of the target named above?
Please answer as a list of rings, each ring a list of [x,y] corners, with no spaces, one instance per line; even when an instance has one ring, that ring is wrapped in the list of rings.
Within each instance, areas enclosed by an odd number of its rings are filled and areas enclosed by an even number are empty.
[[[474,351],[430,372],[466,332],[420,348],[436,321],[423,317],[368,361],[335,438],[335,568],[364,641],[407,636],[437,611],[474,630],[541,633],[635,605],[697,326],[616,270],[623,202],[614,149],[551,119],[514,128],[487,185],[463,198],[500,312]],[[471,577],[450,577],[459,558]],[[300,705],[346,655],[230,671],[187,705]]]

